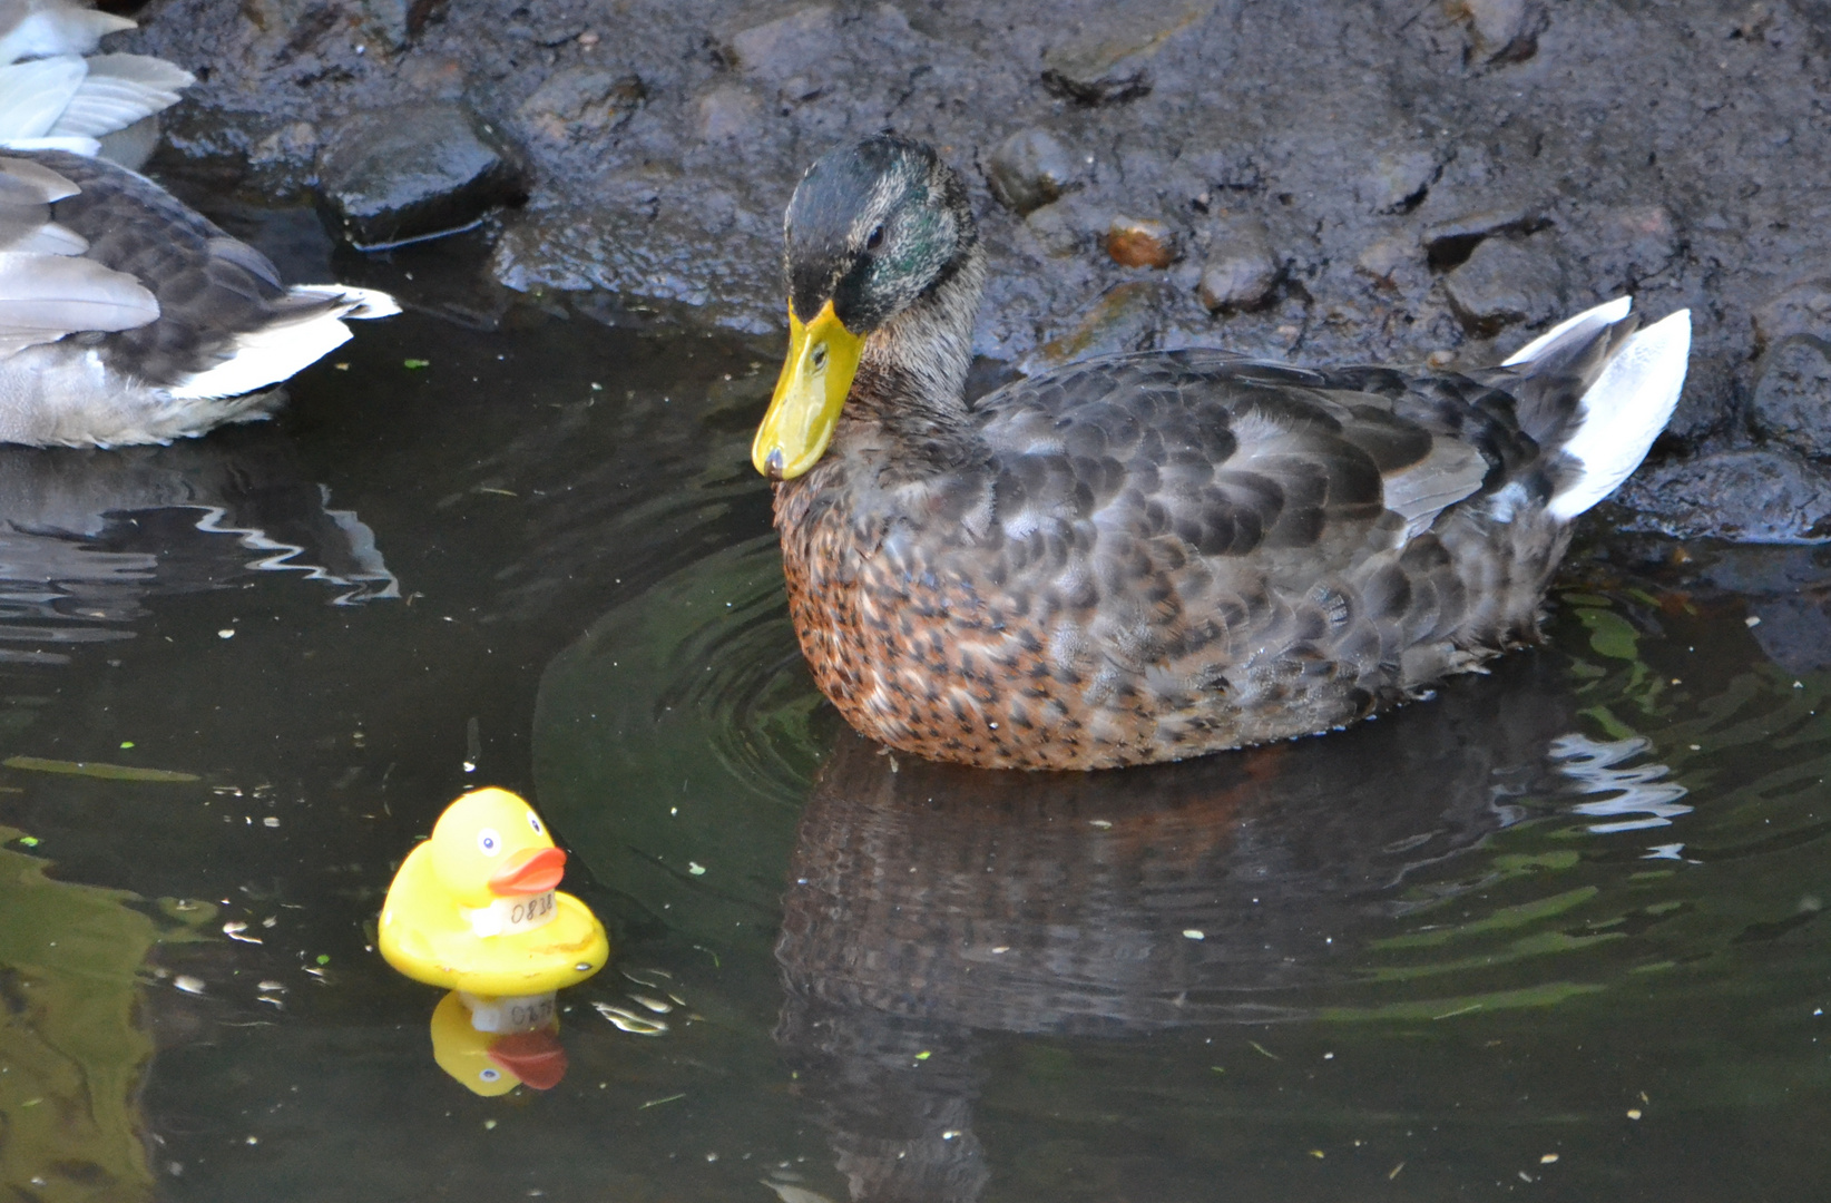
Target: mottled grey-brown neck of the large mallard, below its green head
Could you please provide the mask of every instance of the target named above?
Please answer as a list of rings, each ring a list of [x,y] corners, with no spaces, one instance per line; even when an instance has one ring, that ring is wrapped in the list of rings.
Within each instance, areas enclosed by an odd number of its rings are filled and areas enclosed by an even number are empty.
[[[866,337],[837,441],[881,445],[892,463],[905,465],[963,454],[970,441],[967,368],[983,287],[985,253],[974,244],[947,280]]]

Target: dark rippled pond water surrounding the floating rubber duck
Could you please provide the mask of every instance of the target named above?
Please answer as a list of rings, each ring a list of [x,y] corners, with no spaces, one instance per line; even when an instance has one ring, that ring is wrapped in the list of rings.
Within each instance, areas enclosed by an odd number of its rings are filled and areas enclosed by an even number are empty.
[[[1549,646],[1428,705],[941,769],[800,667],[769,348],[478,330],[427,309],[461,253],[339,264],[421,308],[275,423],[0,450],[9,1198],[1822,1190],[1827,553],[1597,524]],[[370,948],[476,784],[615,945],[500,1099]]]

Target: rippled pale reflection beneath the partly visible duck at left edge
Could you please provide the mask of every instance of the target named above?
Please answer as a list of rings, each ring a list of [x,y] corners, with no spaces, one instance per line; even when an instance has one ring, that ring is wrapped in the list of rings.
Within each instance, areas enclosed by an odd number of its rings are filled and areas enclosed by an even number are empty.
[[[326,601],[399,597],[374,533],[271,438],[0,447],[0,663],[132,639],[143,599],[286,571]]]

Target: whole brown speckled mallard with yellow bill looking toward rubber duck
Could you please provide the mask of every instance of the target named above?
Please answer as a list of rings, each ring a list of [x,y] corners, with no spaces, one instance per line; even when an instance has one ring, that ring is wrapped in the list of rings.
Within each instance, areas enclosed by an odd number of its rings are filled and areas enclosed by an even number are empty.
[[[1617,298],[1461,375],[1143,352],[969,405],[985,255],[932,148],[829,152],[784,227],[753,461],[802,652],[861,732],[987,767],[1322,732],[1536,639],[1690,348]]]

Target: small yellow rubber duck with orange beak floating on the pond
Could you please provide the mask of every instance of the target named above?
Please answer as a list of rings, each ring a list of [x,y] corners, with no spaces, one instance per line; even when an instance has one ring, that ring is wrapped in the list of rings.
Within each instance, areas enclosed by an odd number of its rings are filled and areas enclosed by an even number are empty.
[[[610,959],[591,910],[555,886],[566,853],[507,789],[476,789],[406,853],[381,905],[381,956],[416,981],[482,996],[579,985]]]

